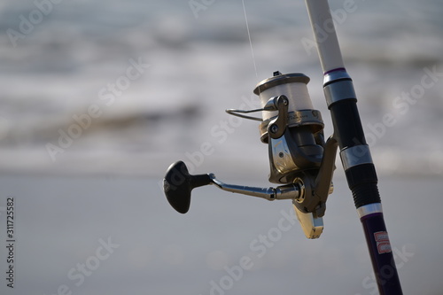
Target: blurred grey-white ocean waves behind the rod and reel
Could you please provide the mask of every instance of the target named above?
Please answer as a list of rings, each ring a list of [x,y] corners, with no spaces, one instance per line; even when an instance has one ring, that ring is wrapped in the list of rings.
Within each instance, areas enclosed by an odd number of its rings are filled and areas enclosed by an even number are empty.
[[[330,135],[318,57],[304,46],[312,40],[305,4],[208,3],[194,11],[188,1],[0,4],[0,171],[157,176],[175,159],[200,166],[195,153],[208,142],[202,169],[237,162],[240,175],[266,175],[257,124],[224,110],[258,104],[254,86],[276,70],[311,77]],[[344,5],[330,1],[379,173],[441,176],[441,4]],[[427,71],[439,75],[424,88]]]

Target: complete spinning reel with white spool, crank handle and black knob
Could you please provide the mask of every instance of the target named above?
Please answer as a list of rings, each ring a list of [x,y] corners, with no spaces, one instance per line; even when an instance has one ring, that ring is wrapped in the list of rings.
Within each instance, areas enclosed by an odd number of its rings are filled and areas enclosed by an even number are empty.
[[[326,200],[333,191],[338,144],[333,136],[324,141],[322,115],[312,105],[307,82],[304,74],[275,72],[253,91],[260,97],[260,109],[226,111],[260,121],[260,140],[268,144],[269,182],[281,185],[256,188],[227,184],[214,174],[190,175],[183,161],[177,161],[168,167],[163,181],[169,204],[179,213],[187,213],[191,190],[207,184],[268,200],[291,199],[307,238],[320,237]],[[261,112],[262,118],[245,114],[254,112]]]

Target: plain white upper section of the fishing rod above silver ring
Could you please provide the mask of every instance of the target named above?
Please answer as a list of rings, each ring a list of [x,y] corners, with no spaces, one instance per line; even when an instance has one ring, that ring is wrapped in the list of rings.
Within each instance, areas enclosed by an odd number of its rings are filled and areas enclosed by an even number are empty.
[[[306,0],[307,13],[311,20],[317,43],[318,55],[322,63],[323,73],[326,74],[338,68],[344,68],[338,45],[334,21],[330,15],[330,5],[327,0]]]

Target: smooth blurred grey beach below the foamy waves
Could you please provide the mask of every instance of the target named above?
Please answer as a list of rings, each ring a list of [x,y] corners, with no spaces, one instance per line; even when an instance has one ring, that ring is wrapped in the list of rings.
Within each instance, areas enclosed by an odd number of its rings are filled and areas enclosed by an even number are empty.
[[[307,240],[289,201],[205,187],[183,215],[159,179],[3,175],[0,206],[13,198],[15,244],[13,290],[1,248],[1,293],[376,294],[350,191],[336,178],[323,236]],[[391,176],[379,184],[405,293],[442,294],[442,183]]]

